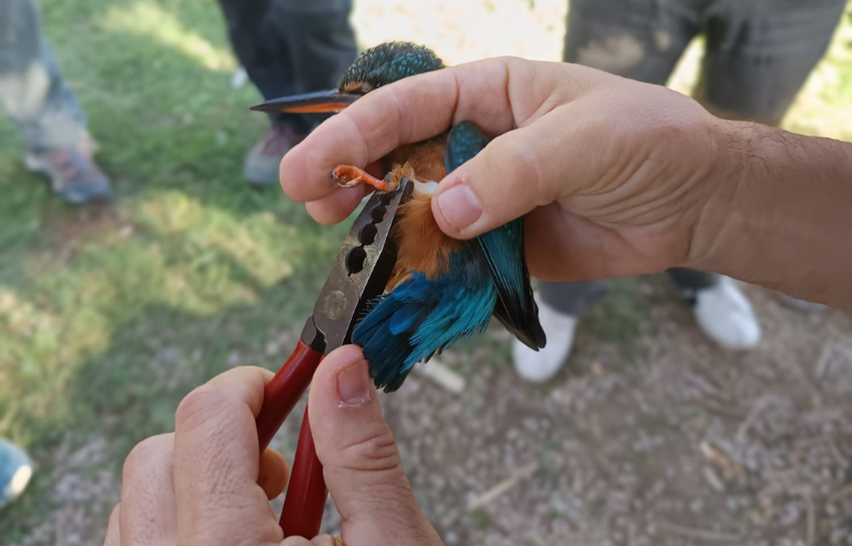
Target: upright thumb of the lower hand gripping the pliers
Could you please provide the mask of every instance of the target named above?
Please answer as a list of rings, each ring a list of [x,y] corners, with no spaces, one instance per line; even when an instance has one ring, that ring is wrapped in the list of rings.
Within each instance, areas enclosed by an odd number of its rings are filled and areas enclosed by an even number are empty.
[[[343,346],[320,364],[308,408],[344,544],[440,545],[414,499],[361,348]]]

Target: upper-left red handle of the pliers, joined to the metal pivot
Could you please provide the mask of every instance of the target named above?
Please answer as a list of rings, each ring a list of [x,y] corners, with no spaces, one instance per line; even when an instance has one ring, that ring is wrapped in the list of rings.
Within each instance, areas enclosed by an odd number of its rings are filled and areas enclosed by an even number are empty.
[[[263,391],[263,405],[255,421],[261,453],[270,445],[284,419],[302,397],[323,354],[305,345],[301,340],[287,362]],[[313,535],[310,537],[313,538]]]

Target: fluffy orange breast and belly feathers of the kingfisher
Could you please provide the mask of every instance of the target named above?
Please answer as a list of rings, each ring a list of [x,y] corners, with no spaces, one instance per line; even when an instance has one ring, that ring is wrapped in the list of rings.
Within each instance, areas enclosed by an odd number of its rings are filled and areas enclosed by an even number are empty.
[[[394,178],[405,176],[418,182],[440,181],[446,175],[444,148],[446,135],[395,150],[388,159]],[[412,199],[402,205],[399,221],[394,228],[398,247],[396,272],[387,286],[393,290],[419,271],[435,279],[449,267],[449,254],[460,244],[438,228],[432,215],[432,194],[414,190]]]

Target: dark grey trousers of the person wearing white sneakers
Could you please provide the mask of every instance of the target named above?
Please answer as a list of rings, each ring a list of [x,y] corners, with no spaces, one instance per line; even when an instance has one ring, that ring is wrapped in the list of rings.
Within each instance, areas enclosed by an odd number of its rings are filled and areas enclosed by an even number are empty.
[[[564,60],[665,84],[690,40],[703,32],[707,53],[694,97],[729,119],[778,125],[822,58],[845,0],[571,0]],[[673,269],[690,297],[718,282],[711,273]],[[610,281],[541,283],[541,301],[581,316]]]

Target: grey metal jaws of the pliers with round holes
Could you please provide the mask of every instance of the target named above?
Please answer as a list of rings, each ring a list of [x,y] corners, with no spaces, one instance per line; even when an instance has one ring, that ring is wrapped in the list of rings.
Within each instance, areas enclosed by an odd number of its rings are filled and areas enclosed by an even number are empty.
[[[390,280],[396,265],[390,230],[397,222],[397,209],[413,191],[414,182],[403,179],[395,192],[375,192],[364,205],[302,331],[305,344],[328,354],[352,341],[356,320]]]

